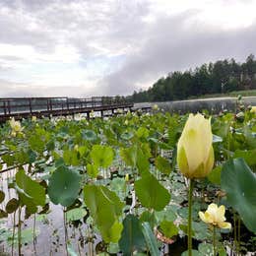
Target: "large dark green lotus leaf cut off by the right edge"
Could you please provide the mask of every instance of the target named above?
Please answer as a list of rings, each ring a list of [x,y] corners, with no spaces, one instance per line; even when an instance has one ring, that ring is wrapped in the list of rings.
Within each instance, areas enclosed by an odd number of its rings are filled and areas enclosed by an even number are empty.
[[[243,159],[228,160],[222,171],[227,202],[248,229],[256,233],[256,175]]]

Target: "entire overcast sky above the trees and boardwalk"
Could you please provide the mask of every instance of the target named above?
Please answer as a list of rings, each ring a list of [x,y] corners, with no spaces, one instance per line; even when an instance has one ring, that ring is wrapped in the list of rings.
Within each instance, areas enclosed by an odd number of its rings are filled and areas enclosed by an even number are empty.
[[[129,95],[256,55],[256,0],[0,0],[0,96]]]

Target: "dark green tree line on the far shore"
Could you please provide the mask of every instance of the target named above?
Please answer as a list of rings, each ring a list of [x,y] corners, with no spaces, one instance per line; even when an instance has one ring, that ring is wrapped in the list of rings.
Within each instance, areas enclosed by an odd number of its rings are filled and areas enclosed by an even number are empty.
[[[252,89],[256,89],[256,60],[251,54],[244,63],[224,59],[195,70],[171,72],[149,90],[128,97],[135,102],[164,101]]]

